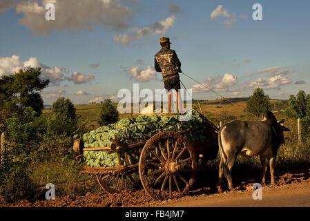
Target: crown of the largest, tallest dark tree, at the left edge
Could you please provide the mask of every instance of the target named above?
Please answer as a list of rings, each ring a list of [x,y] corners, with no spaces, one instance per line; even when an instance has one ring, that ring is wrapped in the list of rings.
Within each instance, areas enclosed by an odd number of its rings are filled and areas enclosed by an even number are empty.
[[[41,90],[49,80],[41,80],[41,68],[26,68],[0,77],[0,110],[14,113],[31,107],[38,115],[43,110]]]

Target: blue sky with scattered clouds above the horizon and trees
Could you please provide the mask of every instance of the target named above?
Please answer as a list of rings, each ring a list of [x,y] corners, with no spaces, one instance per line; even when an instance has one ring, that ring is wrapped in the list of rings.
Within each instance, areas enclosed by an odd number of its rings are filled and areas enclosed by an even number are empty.
[[[32,3],[30,3],[32,2]],[[55,21],[46,21],[46,3]],[[262,5],[262,21],[252,6]],[[36,0],[0,3],[0,75],[42,66],[51,104],[115,99],[122,88],[164,88],[153,70],[159,37],[171,38],[182,70],[226,97],[264,88],[287,99],[309,91],[310,1]],[[213,13],[213,14],[212,14]],[[213,17],[211,16],[213,15]],[[13,56],[16,55],[16,56]],[[181,75],[197,99],[218,97]]]

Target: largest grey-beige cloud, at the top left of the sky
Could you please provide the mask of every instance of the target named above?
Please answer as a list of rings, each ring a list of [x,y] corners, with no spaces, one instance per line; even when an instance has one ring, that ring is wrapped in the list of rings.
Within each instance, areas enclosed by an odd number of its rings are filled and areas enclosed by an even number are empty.
[[[55,21],[45,19],[47,3],[55,4]],[[120,0],[20,1],[16,11],[23,14],[19,22],[36,34],[47,34],[53,30],[91,30],[94,25],[122,30],[128,28],[128,20],[132,17],[132,11],[122,6]]]

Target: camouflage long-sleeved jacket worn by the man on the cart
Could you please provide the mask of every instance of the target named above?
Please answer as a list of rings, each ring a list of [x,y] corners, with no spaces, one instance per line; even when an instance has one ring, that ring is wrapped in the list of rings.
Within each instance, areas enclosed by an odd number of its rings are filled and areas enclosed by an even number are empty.
[[[155,55],[155,70],[162,72],[164,81],[179,77],[178,69],[180,68],[181,62],[175,50],[162,48]]]

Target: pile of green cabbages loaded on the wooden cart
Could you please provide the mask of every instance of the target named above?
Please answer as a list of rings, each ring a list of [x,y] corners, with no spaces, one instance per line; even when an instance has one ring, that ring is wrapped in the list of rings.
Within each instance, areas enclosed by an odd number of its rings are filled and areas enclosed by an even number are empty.
[[[206,124],[204,119],[195,110],[188,111],[183,117],[189,117],[188,121],[180,121],[180,115],[171,116],[145,116],[139,115],[133,118],[120,119],[115,124],[101,126],[90,133],[83,135],[84,147],[97,148],[102,146],[111,146],[111,140],[116,139],[119,142],[129,145],[130,140],[133,144],[138,141],[148,140],[151,136],[162,131],[182,131],[191,129],[187,133],[188,140],[191,142],[205,140],[204,135]],[[131,150],[135,151],[135,150]],[[139,152],[135,153],[139,155]],[[117,166],[119,161],[117,153],[108,154],[106,151],[84,151],[86,164],[88,166]],[[122,159],[123,160],[123,159]],[[139,162],[138,157],[130,155],[130,164]]]

